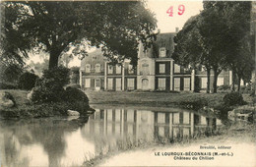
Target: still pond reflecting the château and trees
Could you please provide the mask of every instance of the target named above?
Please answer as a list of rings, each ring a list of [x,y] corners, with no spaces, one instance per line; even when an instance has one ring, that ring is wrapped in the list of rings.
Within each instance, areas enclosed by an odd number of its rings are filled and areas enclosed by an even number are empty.
[[[210,136],[221,120],[190,110],[94,106],[89,117],[0,121],[3,166],[77,166],[134,146]]]

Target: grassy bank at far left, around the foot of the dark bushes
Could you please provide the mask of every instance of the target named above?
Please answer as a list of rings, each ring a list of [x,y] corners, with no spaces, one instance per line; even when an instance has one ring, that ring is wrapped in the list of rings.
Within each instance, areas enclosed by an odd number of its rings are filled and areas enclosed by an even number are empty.
[[[67,110],[80,110],[81,113],[87,112],[88,105],[81,102],[54,102],[32,104],[27,98],[29,91],[20,89],[4,89],[1,91],[10,92],[16,102],[11,108],[0,110],[0,117],[3,118],[30,118],[30,117],[51,117],[51,116],[67,116]]]

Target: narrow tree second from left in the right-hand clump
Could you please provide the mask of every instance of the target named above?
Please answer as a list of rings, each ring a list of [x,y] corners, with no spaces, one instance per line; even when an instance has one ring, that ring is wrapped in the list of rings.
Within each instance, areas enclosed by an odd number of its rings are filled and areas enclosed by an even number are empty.
[[[217,92],[218,76],[227,66],[223,50],[225,48],[224,38],[228,28],[221,11],[215,6],[204,6],[204,11],[201,13],[202,17],[198,20],[197,27],[208,53],[207,60],[214,72],[214,93]]]

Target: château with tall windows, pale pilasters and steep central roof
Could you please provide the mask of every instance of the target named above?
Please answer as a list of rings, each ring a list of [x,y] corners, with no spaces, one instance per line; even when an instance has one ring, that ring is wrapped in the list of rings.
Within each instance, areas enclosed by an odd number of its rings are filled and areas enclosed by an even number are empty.
[[[207,75],[204,67],[192,70],[176,64],[171,58],[174,51],[174,36],[174,32],[160,33],[153,46],[146,51],[144,51],[143,44],[140,44],[136,68],[133,68],[129,61],[113,66],[102,56],[101,50],[96,49],[81,62],[81,87],[83,89],[115,91],[136,89],[151,91],[205,90]],[[218,78],[218,85],[229,85],[231,79],[231,73],[224,71]],[[213,75],[211,82],[213,82]]]

